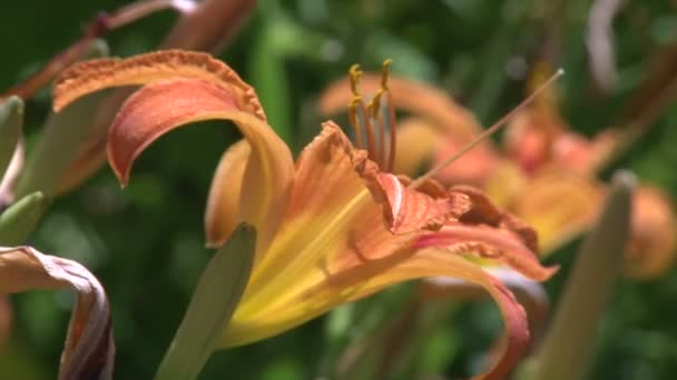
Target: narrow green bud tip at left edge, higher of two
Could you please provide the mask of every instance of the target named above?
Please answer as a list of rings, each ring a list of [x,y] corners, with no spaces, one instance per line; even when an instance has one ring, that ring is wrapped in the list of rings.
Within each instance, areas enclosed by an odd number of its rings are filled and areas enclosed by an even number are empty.
[[[23,101],[9,97],[0,103],[0,180],[9,167],[23,127]]]

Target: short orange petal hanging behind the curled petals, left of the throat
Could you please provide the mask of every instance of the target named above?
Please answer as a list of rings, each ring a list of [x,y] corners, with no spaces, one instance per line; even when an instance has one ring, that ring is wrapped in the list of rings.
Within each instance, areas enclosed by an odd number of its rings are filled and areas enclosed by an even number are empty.
[[[242,182],[251,153],[247,140],[241,140],[224,152],[216,168],[205,212],[205,233],[212,247],[223,244],[239,222]]]

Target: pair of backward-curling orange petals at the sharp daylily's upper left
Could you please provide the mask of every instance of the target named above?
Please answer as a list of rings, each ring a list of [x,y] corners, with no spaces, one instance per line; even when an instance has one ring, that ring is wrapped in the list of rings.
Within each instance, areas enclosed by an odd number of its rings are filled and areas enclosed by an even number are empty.
[[[109,129],[108,158],[122,183],[138,157],[164,133],[186,123],[234,121],[252,147],[243,176],[238,221],[258,231],[264,251],[282,219],[293,162],[287,146],[265,123],[254,90],[225,63],[205,53],[161,51],[126,60],[95,60],[76,64],[58,80],[55,107],[107,87],[150,83],[122,106]]]

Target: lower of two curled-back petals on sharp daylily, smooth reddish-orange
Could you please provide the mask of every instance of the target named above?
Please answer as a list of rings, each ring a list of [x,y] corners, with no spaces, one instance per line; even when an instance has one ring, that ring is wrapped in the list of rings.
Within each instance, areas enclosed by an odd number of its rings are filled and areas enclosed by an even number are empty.
[[[257,251],[258,248],[264,250],[286,209],[294,173],[292,156],[268,124],[238,110],[227,89],[200,79],[175,79],[145,86],[127,99],[110,126],[110,166],[126,183],[134,160],[153,141],[186,123],[209,119],[234,121],[251,146],[242,181],[247,193],[238,199],[238,221],[256,227]],[[216,179],[215,186],[218,181]]]

